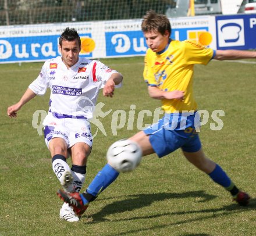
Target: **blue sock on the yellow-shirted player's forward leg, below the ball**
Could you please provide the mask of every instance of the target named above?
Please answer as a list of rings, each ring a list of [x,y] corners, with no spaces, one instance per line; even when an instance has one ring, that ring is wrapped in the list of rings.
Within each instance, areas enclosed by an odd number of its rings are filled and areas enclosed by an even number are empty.
[[[81,199],[84,205],[88,204],[89,198],[92,201],[100,194],[109,184],[116,180],[119,176],[119,172],[113,169],[112,166],[106,164],[101,171],[98,172],[97,176],[95,176],[94,180],[86,189],[86,192],[80,194]],[[89,198],[87,196],[90,196]]]

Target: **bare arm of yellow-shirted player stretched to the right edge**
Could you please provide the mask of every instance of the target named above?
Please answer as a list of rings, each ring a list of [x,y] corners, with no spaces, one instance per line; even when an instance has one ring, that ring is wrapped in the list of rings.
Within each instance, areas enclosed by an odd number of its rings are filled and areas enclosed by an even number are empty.
[[[242,51],[242,50],[217,50],[214,56],[216,60],[236,60],[256,58],[256,51]]]

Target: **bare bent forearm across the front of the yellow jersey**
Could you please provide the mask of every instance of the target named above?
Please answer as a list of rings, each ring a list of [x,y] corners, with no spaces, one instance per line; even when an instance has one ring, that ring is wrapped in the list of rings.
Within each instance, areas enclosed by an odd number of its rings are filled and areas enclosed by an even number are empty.
[[[148,94],[154,99],[177,99],[182,101],[184,99],[184,91],[174,90],[174,91],[162,91],[154,86],[148,86]]]

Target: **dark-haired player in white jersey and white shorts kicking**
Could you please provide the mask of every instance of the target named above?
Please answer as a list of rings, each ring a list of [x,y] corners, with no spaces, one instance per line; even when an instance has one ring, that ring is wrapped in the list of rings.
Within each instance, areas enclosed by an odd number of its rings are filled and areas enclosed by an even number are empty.
[[[49,112],[44,120],[45,143],[52,157],[52,169],[66,191],[79,192],[86,177],[86,163],[93,138],[90,120],[93,117],[99,90],[104,96],[113,96],[120,85],[122,74],[98,60],[79,57],[81,40],[74,28],[66,28],[59,38],[61,56],[47,60],[38,77],[29,85],[22,98],[9,106],[9,117],[36,95],[51,90]],[[66,162],[72,158],[72,167]],[[64,203],[61,219],[79,221],[73,208]]]

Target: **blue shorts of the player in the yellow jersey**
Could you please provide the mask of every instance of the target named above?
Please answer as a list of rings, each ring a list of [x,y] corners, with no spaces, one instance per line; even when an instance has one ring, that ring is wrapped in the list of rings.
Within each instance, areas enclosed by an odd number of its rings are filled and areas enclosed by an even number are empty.
[[[159,158],[178,148],[182,148],[185,152],[197,152],[201,149],[201,141],[194,127],[171,130],[163,126],[163,120],[160,119],[157,124],[144,130],[145,134],[150,135],[150,143]]]

